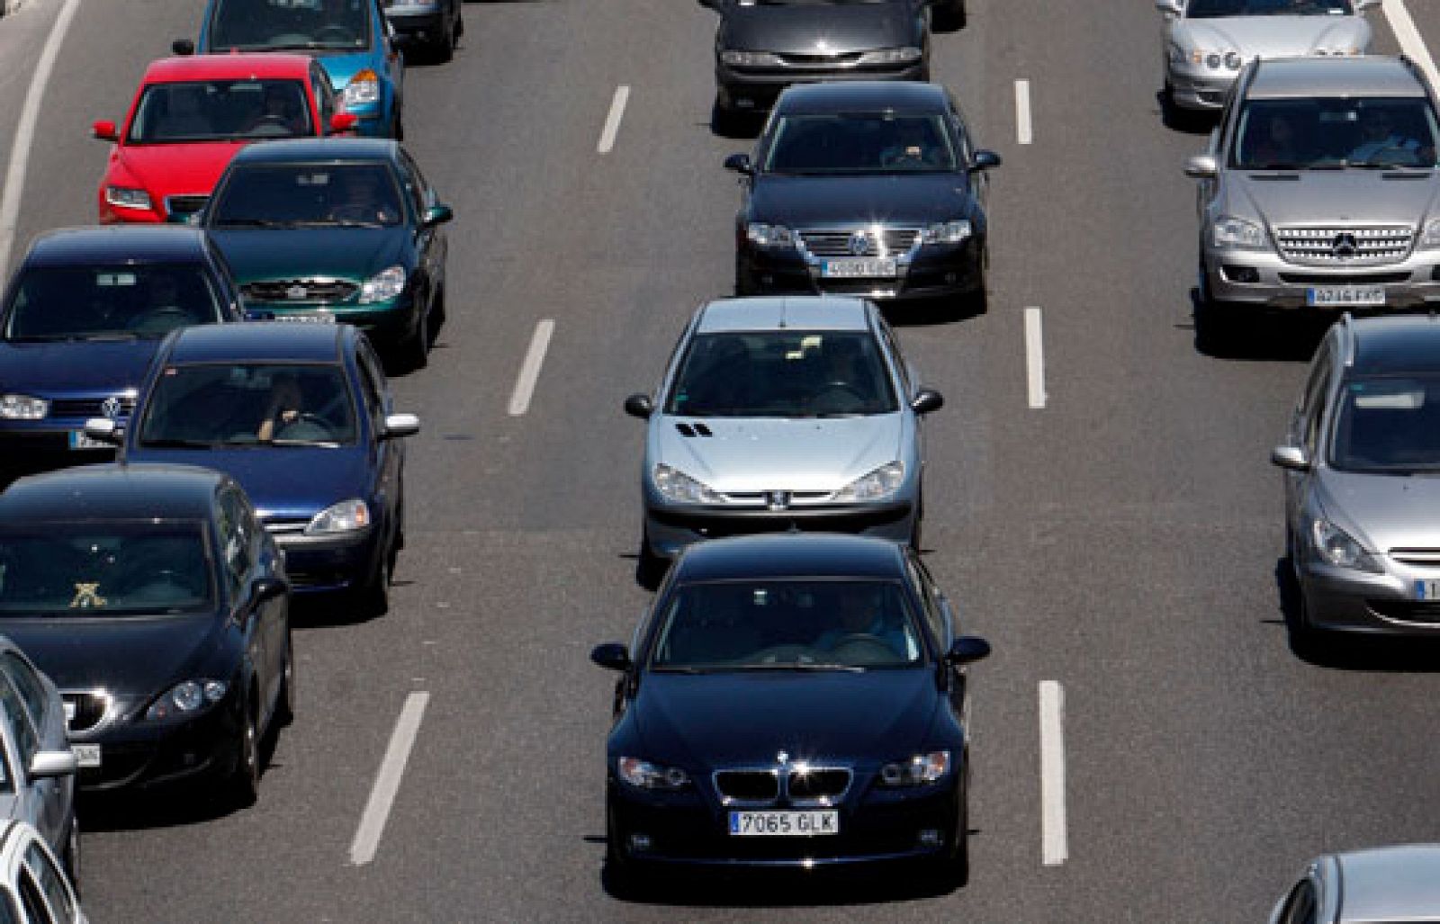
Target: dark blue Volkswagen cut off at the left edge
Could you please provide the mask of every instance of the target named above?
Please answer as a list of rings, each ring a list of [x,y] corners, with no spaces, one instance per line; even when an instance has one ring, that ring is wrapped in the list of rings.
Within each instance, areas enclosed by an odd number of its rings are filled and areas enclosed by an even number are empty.
[[[36,237],[0,307],[6,475],[109,458],[88,417],[124,420],[160,340],[239,321],[225,261],[194,227],[75,227]]]

